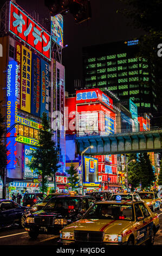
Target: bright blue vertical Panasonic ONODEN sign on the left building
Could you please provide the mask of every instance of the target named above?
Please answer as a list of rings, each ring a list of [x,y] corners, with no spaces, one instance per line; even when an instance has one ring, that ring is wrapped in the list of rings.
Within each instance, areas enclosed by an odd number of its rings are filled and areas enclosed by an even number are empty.
[[[18,65],[15,60],[8,64],[7,68],[7,169],[15,169],[16,167],[16,123],[15,115],[17,115],[17,78],[18,78]]]

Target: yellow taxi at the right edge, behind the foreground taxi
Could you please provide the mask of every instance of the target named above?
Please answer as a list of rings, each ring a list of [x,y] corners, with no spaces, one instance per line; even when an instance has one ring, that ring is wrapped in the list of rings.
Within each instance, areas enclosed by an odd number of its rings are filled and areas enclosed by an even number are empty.
[[[147,205],[148,207],[151,208],[151,210],[154,212],[155,209],[159,209],[160,210],[160,204],[161,204],[161,200],[160,198],[158,197],[158,193],[157,192],[145,192],[145,191],[142,191],[142,192],[139,192],[138,193],[141,200],[143,200]]]

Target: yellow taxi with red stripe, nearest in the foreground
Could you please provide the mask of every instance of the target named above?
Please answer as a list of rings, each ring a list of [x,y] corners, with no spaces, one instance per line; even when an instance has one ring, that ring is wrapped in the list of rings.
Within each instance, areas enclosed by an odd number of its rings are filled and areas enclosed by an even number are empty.
[[[95,202],[79,221],[64,227],[59,245],[153,245],[159,217],[142,202]]]

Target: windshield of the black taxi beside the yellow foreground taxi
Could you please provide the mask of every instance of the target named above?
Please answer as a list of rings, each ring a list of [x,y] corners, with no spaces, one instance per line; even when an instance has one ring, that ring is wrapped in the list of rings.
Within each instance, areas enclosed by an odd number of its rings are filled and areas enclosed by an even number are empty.
[[[79,199],[77,198],[51,198],[44,206],[43,210],[48,212],[70,212],[79,209]]]

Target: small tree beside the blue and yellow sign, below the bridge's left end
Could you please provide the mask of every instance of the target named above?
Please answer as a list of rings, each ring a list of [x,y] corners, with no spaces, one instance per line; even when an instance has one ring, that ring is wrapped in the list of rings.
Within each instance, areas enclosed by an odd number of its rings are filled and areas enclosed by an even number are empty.
[[[71,187],[72,191],[76,191],[78,189],[78,186],[76,186],[76,184],[79,183],[79,178],[78,178],[77,170],[74,168],[73,162],[71,163],[70,169],[67,170],[67,174],[68,174],[67,187]]]

